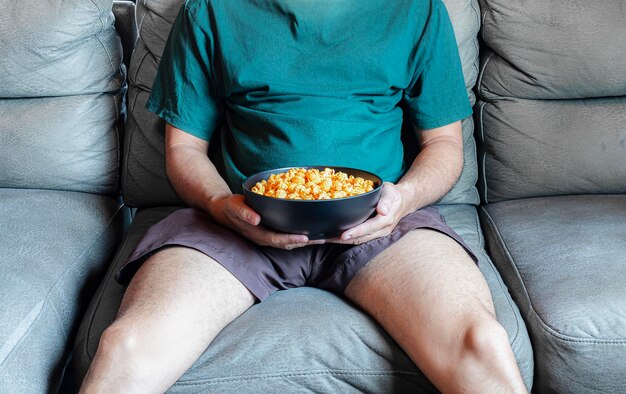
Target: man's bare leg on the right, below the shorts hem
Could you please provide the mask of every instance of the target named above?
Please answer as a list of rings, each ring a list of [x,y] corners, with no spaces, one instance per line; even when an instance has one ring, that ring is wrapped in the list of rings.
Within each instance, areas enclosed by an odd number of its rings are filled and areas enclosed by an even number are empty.
[[[451,238],[411,231],[363,268],[345,294],[442,392],[526,392],[487,283]]]

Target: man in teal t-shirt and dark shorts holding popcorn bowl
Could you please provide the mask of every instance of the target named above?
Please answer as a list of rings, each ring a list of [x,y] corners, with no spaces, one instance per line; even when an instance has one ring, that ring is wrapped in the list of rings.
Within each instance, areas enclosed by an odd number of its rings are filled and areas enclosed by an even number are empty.
[[[148,108],[192,208],[118,273],[130,284],[82,391],[162,392],[257,300],[306,283],[371,314],[443,392],[525,392],[475,257],[429,207],[462,167],[459,63],[440,0],[187,1]],[[408,165],[404,116],[420,143]],[[309,164],[381,176],[377,215],[318,241],[260,225],[241,181]]]

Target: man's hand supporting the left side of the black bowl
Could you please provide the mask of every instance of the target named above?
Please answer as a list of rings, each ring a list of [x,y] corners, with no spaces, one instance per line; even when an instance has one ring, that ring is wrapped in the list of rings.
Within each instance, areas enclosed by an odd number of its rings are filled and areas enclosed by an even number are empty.
[[[324,240],[309,241],[306,235],[277,233],[262,226],[261,216],[246,205],[245,197],[241,194],[212,201],[211,216],[221,225],[236,231],[257,245],[290,250],[324,243]]]

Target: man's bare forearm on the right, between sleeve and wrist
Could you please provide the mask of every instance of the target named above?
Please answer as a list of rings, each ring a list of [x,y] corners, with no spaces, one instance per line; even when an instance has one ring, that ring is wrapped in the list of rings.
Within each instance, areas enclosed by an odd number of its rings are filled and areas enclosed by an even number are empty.
[[[406,213],[438,201],[461,174],[463,142],[460,122],[445,127],[449,128],[450,134],[424,142],[411,167],[398,182],[405,196]],[[429,131],[421,133],[427,135]]]

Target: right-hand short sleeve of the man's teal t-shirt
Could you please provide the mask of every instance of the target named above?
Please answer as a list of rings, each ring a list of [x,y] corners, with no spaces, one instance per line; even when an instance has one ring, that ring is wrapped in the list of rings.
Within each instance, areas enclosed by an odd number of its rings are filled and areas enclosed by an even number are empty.
[[[432,0],[416,51],[411,85],[405,91],[408,115],[419,129],[433,129],[472,114],[459,50],[448,12],[440,0]]]

